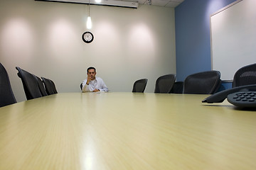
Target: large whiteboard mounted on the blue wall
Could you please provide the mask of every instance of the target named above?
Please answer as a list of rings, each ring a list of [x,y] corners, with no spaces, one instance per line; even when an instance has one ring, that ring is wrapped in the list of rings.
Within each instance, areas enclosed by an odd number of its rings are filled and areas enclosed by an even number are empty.
[[[212,69],[231,80],[240,67],[256,63],[256,0],[239,0],[210,16]]]

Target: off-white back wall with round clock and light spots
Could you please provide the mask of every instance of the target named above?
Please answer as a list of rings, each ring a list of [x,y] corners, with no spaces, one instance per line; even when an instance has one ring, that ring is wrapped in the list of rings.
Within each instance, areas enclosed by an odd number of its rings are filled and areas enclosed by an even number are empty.
[[[17,101],[26,100],[16,66],[53,79],[61,92],[79,92],[87,67],[110,91],[132,91],[134,81],[176,73],[174,8],[90,6],[95,40],[86,44],[87,5],[0,1],[0,62]]]

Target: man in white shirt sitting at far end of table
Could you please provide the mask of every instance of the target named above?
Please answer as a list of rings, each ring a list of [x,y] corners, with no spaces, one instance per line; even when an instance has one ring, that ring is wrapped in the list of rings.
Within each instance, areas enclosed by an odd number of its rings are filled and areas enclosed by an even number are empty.
[[[82,81],[82,92],[108,91],[106,84],[100,77],[96,76],[95,67],[87,68],[87,79]]]

